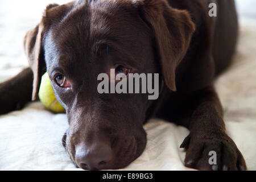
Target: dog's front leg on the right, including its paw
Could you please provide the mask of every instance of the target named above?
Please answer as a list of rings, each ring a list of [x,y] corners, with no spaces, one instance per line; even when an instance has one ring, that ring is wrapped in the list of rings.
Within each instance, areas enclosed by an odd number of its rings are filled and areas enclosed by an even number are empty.
[[[222,106],[214,88],[200,90],[186,100],[192,110],[190,119],[186,119],[190,134],[180,146],[187,151],[185,166],[204,170],[245,170],[241,152],[225,133]]]

